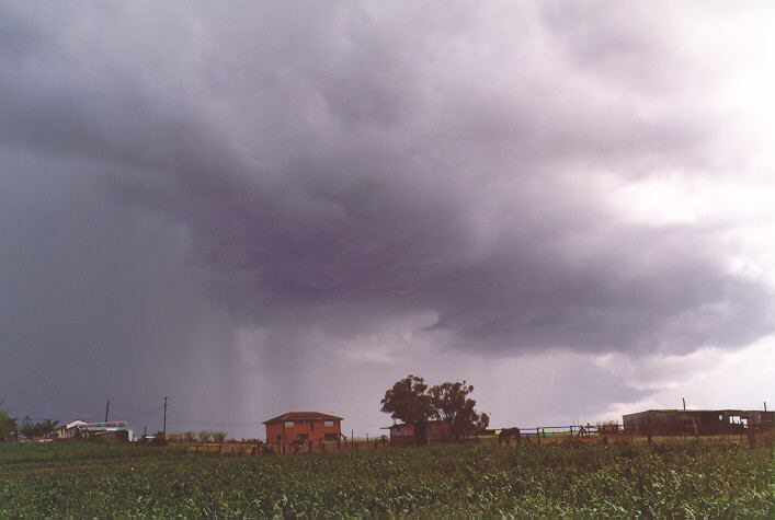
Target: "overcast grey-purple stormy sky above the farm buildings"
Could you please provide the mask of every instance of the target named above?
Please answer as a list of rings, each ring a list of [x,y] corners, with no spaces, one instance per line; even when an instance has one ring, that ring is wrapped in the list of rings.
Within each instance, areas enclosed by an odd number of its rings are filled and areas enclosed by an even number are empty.
[[[772,13],[695,7],[0,2],[0,398],[374,432],[411,372],[525,425],[749,351]]]

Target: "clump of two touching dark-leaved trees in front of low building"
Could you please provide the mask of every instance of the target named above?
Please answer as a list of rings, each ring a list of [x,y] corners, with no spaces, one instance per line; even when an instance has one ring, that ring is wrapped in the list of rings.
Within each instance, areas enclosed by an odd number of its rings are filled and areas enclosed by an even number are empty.
[[[474,385],[460,382],[444,382],[429,390],[422,378],[409,374],[397,381],[385,392],[381,411],[395,419],[414,427],[418,444],[425,441],[424,425],[429,419],[444,420],[456,439],[468,431],[487,428],[490,418],[479,415],[475,409],[476,401],[468,397]]]

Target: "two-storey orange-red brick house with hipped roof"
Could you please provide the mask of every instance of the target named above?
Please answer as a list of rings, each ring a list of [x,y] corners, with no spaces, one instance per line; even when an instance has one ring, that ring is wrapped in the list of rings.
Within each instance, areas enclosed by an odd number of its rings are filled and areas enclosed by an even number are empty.
[[[342,417],[320,412],[288,412],[264,420],[266,442],[288,446],[295,440],[303,442],[339,440],[342,435]]]

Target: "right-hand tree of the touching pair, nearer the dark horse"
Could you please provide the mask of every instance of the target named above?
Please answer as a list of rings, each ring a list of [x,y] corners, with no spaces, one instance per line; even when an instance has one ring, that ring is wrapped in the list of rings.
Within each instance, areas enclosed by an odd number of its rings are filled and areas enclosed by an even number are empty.
[[[454,439],[459,439],[467,431],[485,429],[490,423],[487,414],[481,416],[474,409],[476,401],[468,397],[474,392],[472,384],[444,382],[430,390],[433,416],[449,425]],[[482,427],[483,426],[483,427]]]

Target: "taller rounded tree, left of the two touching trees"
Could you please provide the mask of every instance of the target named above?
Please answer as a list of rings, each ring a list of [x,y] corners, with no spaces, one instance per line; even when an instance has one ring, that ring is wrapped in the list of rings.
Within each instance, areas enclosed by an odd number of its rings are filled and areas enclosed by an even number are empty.
[[[425,424],[433,414],[433,404],[426,390],[428,385],[422,378],[409,374],[386,391],[380,401],[383,412],[390,414],[394,419],[412,425],[418,444],[425,443]]]

